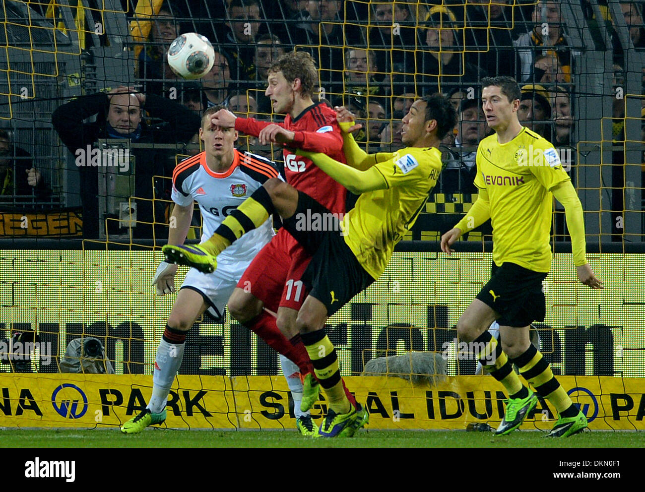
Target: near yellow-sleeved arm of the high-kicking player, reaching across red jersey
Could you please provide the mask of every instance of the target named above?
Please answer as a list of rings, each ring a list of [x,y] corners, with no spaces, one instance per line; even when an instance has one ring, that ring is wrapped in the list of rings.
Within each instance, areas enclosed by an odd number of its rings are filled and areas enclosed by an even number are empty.
[[[335,161],[328,155],[321,152],[308,152],[306,150],[295,150],[297,155],[308,157],[313,163],[328,174],[334,181],[339,182],[355,195],[360,195],[373,190],[384,190],[388,187],[383,175],[377,168],[370,168],[360,171],[342,162]]]

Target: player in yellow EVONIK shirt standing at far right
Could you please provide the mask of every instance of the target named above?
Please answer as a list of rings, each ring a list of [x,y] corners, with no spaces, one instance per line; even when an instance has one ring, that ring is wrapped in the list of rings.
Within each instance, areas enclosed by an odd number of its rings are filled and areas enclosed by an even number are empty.
[[[508,391],[506,414],[497,434],[519,428],[535,408],[538,395],[559,413],[549,433],[567,437],[587,427],[586,417],[571,402],[551,372],[550,365],[529,341],[533,320],[544,320],[546,300],[542,280],[551,268],[551,209],[553,197],[561,202],[571,233],[571,248],[580,281],[602,288],[585,257],[582,205],[553,145],[521,126],[517,118],[521,92],[511,77],[482,79],[482,103],[488,126],[495,130],[477,148],[477,201],[452,230],[441,237],[442,251],[450,254],[462,233],[491,219],[493,266],[491,279],[457,322],[461,340],[473,342],[487,371]],[[499,322],[501,346],[486,331]]]

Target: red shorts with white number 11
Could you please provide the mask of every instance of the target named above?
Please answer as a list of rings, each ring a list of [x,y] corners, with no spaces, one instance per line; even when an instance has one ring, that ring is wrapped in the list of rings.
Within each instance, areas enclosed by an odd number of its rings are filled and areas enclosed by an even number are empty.
[[[250,291],[273,312],[300,310],[307,292],[301,277],[312,257],[284,228],[260,250],[237,286]]]

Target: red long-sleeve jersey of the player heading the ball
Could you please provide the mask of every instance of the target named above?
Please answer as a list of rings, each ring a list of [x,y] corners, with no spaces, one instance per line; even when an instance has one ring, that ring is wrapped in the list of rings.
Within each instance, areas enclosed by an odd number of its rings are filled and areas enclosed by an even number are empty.
[[[257,137],[271,122],[254,118],[237,118],[235,130]],[[341,128],[335,111],[324,103],[315,103],[293,118],[286,115],[284,123],[277,123],[295,133],[293,147],[313,152],[323,152],[339,162],[347,162],[342,153]],[[284,148],[284,173],[286,181],[301,192],[307,193],[330,212],[346,212],[346,190],[333,181],[311,159],[296,155]]]

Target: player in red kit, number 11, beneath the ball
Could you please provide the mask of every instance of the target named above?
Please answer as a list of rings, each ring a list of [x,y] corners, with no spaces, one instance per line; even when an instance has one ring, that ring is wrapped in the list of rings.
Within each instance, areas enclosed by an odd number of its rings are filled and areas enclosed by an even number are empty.
[[[269,69],[265,92],[272,101],[273,112],[286,113],[284,123],[240,118],[227,110],[215,113],[211,121],[213,125],[233,127],[258,137],[261,144],[284,144],[286,181],[331,212],[344,214],[347,190],[310,159],[298,156],[288,148],[323,152],[332,159],[346,162],[335,111],[323,102],[313,103],[312,94],[317,85],[318,72],[311,55],[290,52]],[[208,244],[207,241],[201,246],[208,248]],[[275,346],[276,337],[282,334],[285,350],[297,348],[301,352],[300,360],[293,362],[304,379],[303,411],[311,408],[319,393],[312,363],[295,328],[298,311],[307,294],[301,276],[310,259],[309,253],[283,228],[258,253],[228,300],[228,309],[241,324],[263,339],[272,339],[272,346]],[[349,391],[346,390],[346,394],[359,412],[356,428],[360,428],[368,422],[368,411],[356,403]]]

